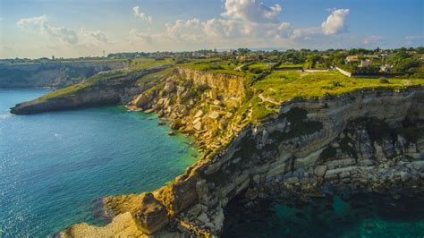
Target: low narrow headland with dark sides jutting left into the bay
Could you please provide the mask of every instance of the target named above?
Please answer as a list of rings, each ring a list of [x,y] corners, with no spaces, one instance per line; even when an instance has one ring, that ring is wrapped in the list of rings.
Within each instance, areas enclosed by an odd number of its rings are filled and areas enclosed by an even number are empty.
[[[107,81],[98,81],[88,86],[53,97],[41,97],[14,106],[11,110],[16,115],[30,115],[48,111],[66,110],[88,106],[104,106],[126,103],[135,95],[152,87],[151,84],[135,85],[140,77],[163,70],[164,67],[152,68],[140,72],[131,72]],[[154,82],[153,82],[154,83]]]

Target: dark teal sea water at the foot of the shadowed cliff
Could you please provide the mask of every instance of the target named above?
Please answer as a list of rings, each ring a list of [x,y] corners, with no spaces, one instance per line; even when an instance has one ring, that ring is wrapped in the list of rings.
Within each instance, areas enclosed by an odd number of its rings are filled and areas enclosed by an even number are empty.
[[[223,237],[416,237],[424,235],[424,198],[361,193],[312,199],[262,200],[252,208],[233,201]]]

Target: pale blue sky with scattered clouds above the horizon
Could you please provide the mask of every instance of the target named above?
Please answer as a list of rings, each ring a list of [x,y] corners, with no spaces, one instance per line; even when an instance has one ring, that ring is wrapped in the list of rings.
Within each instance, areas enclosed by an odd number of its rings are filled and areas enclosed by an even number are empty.
[[[423,0],[0,0],[0,58],[424,42]]]

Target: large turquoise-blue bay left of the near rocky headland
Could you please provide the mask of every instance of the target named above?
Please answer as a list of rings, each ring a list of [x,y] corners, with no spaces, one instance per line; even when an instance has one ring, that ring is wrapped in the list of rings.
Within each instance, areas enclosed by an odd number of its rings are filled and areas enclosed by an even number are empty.
[[[155,115],[121,106],[11,115],[47,89],[0,89],[0,237],[52,235],[101,224],[101,196],[152,191],[182,174],[197,152]]]

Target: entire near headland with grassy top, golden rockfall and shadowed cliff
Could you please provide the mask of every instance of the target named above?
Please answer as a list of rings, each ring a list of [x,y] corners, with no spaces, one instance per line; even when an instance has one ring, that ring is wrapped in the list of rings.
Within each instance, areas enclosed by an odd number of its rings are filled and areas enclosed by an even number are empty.
[[[241,196],[422,192],[423,80],[195,65],[147,74],[160,82],[129,107],[171,121],[204,156],[157,191],[104,198],[111,224],[72,225],[62,236],[217,235],[226,204]]]

